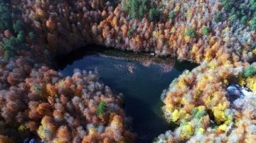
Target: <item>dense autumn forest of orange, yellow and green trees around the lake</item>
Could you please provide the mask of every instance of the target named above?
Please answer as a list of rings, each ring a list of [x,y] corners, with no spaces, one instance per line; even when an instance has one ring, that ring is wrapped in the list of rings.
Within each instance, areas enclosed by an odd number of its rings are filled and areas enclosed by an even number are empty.
[[[255,142],[255,30],[255,0],[0,0],[0,142],[136,142],[97,71],[55,70],[90,44],[198,64],[170,81],[178,127],[153,142]]]

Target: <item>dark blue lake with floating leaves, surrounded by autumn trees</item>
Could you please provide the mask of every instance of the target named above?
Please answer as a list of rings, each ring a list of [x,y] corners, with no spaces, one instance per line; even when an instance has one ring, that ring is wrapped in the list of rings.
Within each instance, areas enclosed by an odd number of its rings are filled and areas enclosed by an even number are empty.
[[[132,132],[137,133],[138,142],[152,142],[154,137],[173,128],[162,118],[161,93],[184,69],[191,70],[196,65],[149,53],[96,47],[85,47],[87,50],[61,57],[57,60],[59,71],[63,76],[71,76],[76,68],[97,68],[105,85],[116,93],[124,93],[124,110],[133,118]]]

